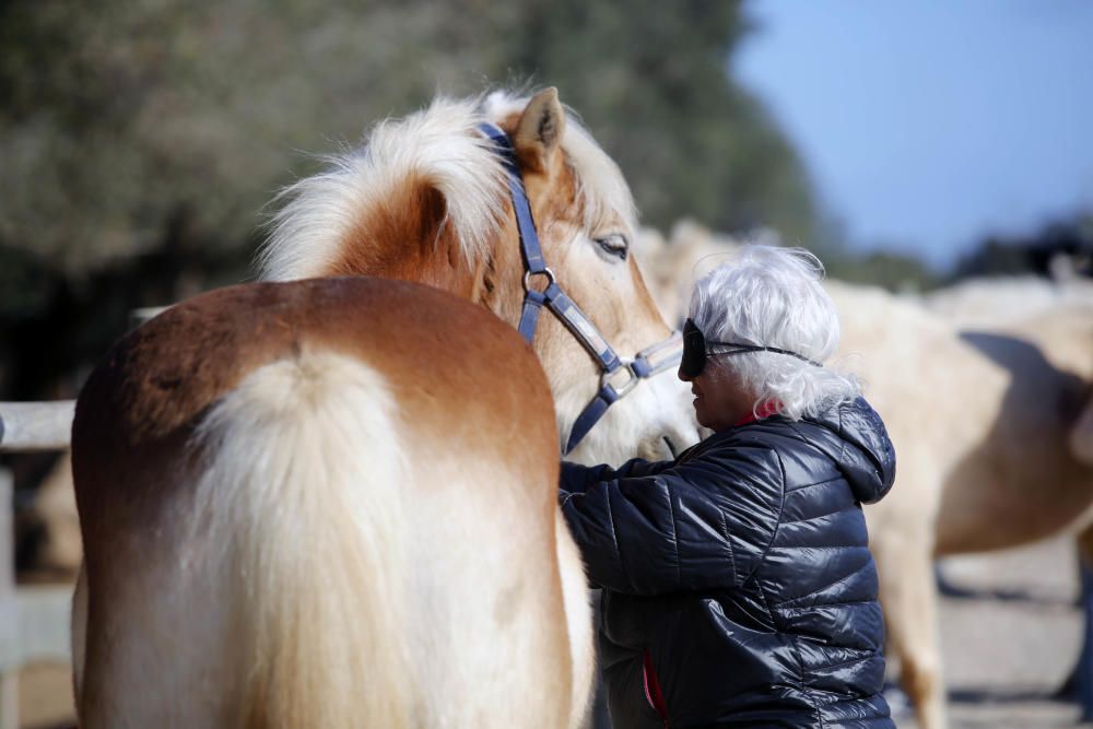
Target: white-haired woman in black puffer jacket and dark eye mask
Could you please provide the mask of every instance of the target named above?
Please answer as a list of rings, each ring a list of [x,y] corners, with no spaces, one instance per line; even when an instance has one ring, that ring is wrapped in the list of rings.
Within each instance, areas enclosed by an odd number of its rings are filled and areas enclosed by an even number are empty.
[[[714,434],[674,461],[563,463],[602,587],[616,727],[894,727],[861,503],[895,456],[838,346],[820,261],[751,246],[698,282],[680,378]]]

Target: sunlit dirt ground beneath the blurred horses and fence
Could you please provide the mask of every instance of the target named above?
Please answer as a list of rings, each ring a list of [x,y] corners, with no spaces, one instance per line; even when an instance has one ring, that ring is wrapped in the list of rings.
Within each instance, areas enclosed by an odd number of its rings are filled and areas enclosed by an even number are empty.
[[[992,555],[947,560],[959,595],[943,598],[941,633],[953,729],[1072,727],[1076,705],[1054,701],[1078,656],[1082,622],[1078,576],[1065,539]],[[20,674],[20,726],[60,729],[73,721],[67,666]],[[901,728],[914,729],[906,702],[890,701]]]

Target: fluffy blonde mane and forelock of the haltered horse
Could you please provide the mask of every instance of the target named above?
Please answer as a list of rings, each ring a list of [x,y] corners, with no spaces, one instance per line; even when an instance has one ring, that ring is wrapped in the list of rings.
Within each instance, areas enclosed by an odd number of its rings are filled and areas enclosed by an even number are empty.
[[[259,278],[289,281],[327,273],[371,205],[384,204],[409,178],[435,188],[445,200],[448,230],[468,261],[487,252],[506,214],[508,183],[492,143],[478,130],[500,124],[527,105],[526,97],[494,92],[474,99],[438,97],[404,119],[376,125],[365,145],[327,157],[329,169],[285,188],[281,209],[258,259]],[[614,212],[636,221],[630,189],[614,162],[568,115],[562,141],[577,178],[585,225]]]

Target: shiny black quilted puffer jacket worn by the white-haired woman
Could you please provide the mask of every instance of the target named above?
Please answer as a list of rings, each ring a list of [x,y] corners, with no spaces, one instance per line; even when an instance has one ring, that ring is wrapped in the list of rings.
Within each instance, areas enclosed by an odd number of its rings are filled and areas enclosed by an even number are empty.
[[[674,462],[565,463],[563,513],[603,588],[614,726],[665,726],[651,680],[673,729],[894,727],[860,507],[894,475],[860,399],[722,431]]]

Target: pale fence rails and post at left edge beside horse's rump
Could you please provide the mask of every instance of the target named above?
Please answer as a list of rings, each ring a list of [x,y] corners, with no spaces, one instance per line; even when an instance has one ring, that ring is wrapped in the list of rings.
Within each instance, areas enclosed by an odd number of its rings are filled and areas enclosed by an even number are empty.
[[[0,402],[0,452],[69,447],[75,401]],[[19,726],[19,670],[71,660],[67,587],[15,587],[13,485],[0,468],[0,729]]]

